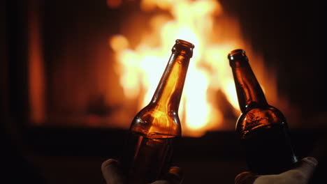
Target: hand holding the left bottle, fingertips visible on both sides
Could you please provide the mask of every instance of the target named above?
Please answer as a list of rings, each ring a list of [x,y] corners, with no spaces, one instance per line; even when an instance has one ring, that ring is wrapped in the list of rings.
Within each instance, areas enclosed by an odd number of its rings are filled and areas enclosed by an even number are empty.
[[[117,160],[108,159],[103,162],[101,164],[101,171],[106,184],[124,184],[125,178],[120,173]],[[165,180],[154,181],[151,184],[179,184],[182,183],[182,178],[182,170],[179,167],[170,167]]]

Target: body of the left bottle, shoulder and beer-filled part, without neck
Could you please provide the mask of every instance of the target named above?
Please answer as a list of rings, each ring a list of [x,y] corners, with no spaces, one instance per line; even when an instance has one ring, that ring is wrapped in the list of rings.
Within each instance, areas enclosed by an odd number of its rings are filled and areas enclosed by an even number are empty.
[[[182,134],[177,114],[167,116],[163,112],[156,113],[149,106],[144,107],[133,119],[126,137],[122,168],[129,184],[152,183],[162,179],[168,172],[174,147]],[[153,114],[161,116],[154,118]],[[170,131],[164,125],[160,126],[168,122],[174,122],[171,126],[175,126]],[[149,129],[152,129],[151,132]]]

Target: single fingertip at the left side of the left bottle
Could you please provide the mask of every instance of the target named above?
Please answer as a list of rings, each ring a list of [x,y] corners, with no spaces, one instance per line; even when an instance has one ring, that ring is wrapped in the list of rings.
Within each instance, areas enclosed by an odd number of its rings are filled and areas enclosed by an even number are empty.
[[[123,177],[119,170],[119,164],[117,160],[108,159],[101,164],[101,171],[103,178],[105,178],[107,184],[122,184]]]

